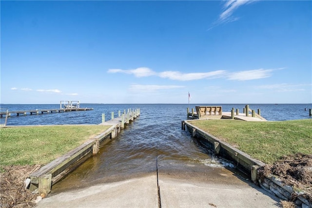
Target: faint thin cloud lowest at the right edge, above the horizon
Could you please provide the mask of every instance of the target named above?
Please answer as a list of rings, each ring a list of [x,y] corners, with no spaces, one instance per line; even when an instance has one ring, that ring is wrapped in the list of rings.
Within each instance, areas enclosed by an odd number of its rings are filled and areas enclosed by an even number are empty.
[[[280,84],[266,84],[256,86],[257,89],[269,89],[275,92],[295,92],[295,91],[305,91],[305,86],[312,86],[312,84],[288,84],[288,83],[280,83]]]

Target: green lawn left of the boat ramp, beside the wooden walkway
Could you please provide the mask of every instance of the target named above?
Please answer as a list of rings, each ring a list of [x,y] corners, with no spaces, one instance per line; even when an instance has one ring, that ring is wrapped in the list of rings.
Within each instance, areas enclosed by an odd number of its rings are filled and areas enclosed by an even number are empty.
[[[0,165],[45,165],[109,127],[53,125],[0,128]]]

